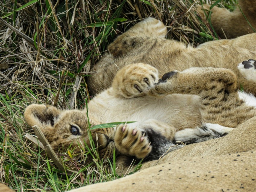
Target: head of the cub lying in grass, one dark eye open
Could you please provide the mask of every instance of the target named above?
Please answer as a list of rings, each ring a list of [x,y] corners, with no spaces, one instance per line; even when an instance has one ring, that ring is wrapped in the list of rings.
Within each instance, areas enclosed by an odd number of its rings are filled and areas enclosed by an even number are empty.
[[[65,151],[70,147],[75,153],[80,153],[81,147],[87,145],[89,148],[97,148],[100,158],[113,154],[114,129],[95,129],[89,132],[86,111],[59,110],[50,105],[32,104],[26,108],[24,118],[31,127],[37,125],[41,129],[55,151]],[[90,141],[94,144],[91,145]]]

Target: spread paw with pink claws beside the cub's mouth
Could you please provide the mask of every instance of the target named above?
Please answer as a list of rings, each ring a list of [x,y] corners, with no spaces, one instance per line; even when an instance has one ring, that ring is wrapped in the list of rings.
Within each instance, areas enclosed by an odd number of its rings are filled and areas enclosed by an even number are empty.
[[[117,150],[124,155],[145,158],[152,150],[145,132],[133,129],[129,125],[118,125],[114,137]]]

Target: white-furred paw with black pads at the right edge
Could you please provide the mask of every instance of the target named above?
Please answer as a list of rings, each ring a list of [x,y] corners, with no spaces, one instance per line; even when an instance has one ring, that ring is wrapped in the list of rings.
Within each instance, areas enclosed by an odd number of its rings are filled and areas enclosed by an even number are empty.
[[[237,68],[246,79],[256,81],[256,61],[254,59],[239,63]]]

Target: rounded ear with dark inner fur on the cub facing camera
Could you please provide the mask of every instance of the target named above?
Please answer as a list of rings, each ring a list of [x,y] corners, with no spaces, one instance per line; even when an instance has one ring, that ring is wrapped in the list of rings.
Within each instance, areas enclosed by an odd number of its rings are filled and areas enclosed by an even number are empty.
[[[43,129],[53,128],[61,110],[50,105],[29,105],[24,112],[24,118],[29,126],[37,125],[45,134]]]

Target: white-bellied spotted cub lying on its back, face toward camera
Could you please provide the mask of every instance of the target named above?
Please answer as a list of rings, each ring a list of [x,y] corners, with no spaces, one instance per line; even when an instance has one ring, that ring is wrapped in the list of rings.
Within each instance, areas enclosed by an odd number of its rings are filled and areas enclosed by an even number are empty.
[[[239,69],[255,77],[255,63],[245,61]],[[133,158],[158,159],[168,150],[183,147],[173,141],[193,143],[221,137],[256,115],[256,99],[238,92],[236,81],[236,75],[223,68],[172,71],[158,80],[158,70],[151,65],[126,65],[112,86],[89,102],[89,122],[91,126],[136,122],[93,129],[89,135],[101,158],[111,157],[115,149],[117,161],[121,159],[125,166]],[[24,117],[30,126],[42,130],[55,150],[71,145],[79,153],[78,146],[91,146],[86,113],[86,109],[32,104]]]

